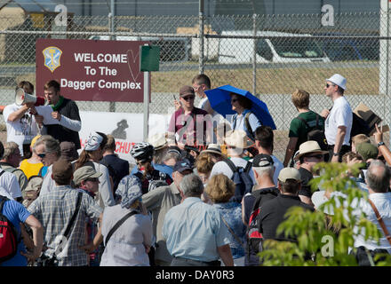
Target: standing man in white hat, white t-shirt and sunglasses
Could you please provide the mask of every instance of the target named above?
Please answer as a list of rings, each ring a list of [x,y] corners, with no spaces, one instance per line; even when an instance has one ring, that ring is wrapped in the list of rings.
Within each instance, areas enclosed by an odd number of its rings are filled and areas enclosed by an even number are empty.
[[[324,91],[333,102],[331,111],[323,109],[321,115],[326,119],[324,134],[329,144],[331,162],[341,162],[343,154],[350,151],[350,130],[352,130],[353,112],[344,91],[347,79],[339,74],[326,79]]]

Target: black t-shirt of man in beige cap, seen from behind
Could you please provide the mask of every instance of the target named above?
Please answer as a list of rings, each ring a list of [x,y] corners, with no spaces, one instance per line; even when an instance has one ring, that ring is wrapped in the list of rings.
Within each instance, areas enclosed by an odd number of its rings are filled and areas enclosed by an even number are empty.
[[[293,206],[299,206],[304,209],[314,211],[314,209],[300,201],[299,196],[292,196],[280,194],[274,199],[265,202],[260,207],[259,212],[259,232],[262,233],[263,238],[273,239],[277,241],[296,241],[295,239],[287,239],[284,233],[276,235],[278,225],[285,220],[285,213]]]

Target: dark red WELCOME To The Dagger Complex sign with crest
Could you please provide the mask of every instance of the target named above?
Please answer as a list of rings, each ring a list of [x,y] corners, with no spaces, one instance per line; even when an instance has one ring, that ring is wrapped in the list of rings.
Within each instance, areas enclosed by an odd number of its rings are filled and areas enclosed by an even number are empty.
[[[36,94],[44,97],[44,84],[54,79],[68,99],[142,102],[139,53],[145,43],[37,39]]]

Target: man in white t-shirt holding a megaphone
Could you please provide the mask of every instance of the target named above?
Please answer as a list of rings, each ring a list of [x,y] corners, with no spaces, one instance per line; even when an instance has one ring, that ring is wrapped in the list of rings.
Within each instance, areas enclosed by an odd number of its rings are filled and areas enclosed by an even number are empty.
[[[31,156],[31,139],[36,137],[42,127],[44,117],[36,113],[34,99],[34,85],[28,81],[21,81],[17,91],[25,95],[20,96],[23,99],[18,100],[15,97],[15,103],[4,107],[3,115],[7,127],[7,142],[18,144],[20,154],[28,159]],[[25,100],[26,97],[26,100]]]

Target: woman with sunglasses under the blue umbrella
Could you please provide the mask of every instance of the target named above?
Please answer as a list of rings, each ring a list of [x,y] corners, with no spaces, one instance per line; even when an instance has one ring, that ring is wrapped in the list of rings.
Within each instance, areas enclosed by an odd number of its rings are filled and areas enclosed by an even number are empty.
[[[255,141],[254,131],[261,126],[258,117],[251,113],[251,100],[241,95],[230,93],[232,110],[236,114],[232,117],[232,130],[243,130],[247,137]]]

